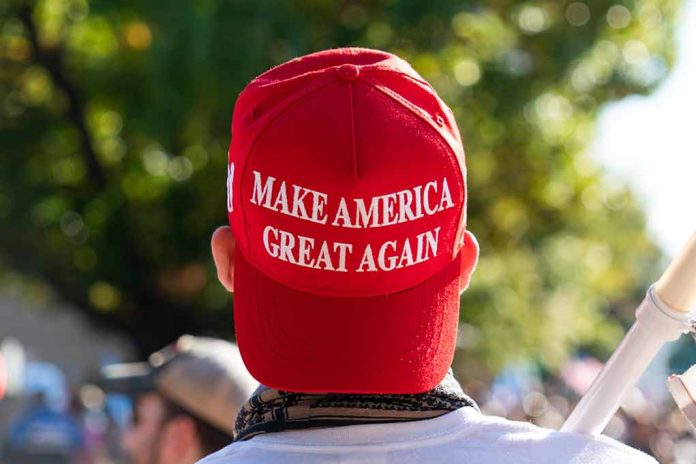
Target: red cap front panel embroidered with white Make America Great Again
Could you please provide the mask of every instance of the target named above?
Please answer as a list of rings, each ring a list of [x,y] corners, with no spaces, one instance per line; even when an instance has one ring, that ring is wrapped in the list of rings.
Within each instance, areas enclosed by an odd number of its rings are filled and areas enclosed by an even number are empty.
[[[284,285],[388,294],[426,280],[455,252],[464,190],[452,151],[427,121],[359,80],[287,106],[236,170],[242,251]]]

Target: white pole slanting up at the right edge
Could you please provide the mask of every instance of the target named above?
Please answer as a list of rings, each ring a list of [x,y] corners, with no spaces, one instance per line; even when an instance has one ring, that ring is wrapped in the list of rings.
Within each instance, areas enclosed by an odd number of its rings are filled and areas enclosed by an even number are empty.
[[[696,305],[696,234],[660,280],[650,287],[628,331],[561,427],[562,432],[602,433],[665,342],[690,330]]]

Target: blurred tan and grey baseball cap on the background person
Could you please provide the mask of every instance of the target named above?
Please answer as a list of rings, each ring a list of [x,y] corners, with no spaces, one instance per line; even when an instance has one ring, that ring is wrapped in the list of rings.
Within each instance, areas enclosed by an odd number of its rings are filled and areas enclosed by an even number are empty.
[[[111,391],[156,391],[230,436],[239,408],[258,386],[236,345],[191,335],[153,353],[147,362],[105,366],[102,377]]]

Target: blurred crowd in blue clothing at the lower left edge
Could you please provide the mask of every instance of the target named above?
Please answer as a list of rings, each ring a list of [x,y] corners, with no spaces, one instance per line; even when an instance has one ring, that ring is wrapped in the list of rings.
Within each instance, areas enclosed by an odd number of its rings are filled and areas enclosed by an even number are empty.
[[[0,400],[2,464],[125,462],[119,435],[132,419],[127,395],[107,394],[90,379],[69,385],[57,366],[40,361],[28,362],[22,377]]]

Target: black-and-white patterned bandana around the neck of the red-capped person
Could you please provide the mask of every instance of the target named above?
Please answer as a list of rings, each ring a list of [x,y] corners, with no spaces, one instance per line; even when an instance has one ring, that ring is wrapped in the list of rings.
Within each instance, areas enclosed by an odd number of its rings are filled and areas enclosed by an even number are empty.
[[[261,385],[237,415],[234,441],[284,430],[432,419],[464,407],[478,410],[451,369],[435,388],[416,395],[290,393]]]

